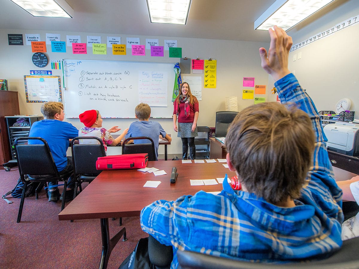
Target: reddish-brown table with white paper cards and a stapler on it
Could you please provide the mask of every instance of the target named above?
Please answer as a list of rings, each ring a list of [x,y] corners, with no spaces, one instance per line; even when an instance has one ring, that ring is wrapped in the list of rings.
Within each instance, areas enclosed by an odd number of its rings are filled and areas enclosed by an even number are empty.
[[[123,228],[109,237],[108,218],[139,216],[141,209],[155,200],[175,200],[181,195],[194,195],[200,190],[219,192],[222,184],[191,186],[190,179],[229,178],[234,172],[225,168],[224,162],[182,164],[182,161],[149,161],[147,167],[164,170],[166,175],[137,169],[102,171],[76,198],[59,213],[59,220],[100,219],[102,254],[99,268],[107,268],[112,249],[122,236]],[[172,167],[177,167],[176,183],[170,183]],[[350,179],[356,174],[333,167],[336,180]],[[146,181],[161,181],[157,188],[143,187]],[[86,205],[86,206],[84,206]]]

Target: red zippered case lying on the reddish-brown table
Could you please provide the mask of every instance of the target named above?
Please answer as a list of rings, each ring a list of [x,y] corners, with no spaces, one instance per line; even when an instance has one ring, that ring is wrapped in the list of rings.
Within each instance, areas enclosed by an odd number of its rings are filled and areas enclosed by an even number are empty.
[[[148,162],[147,153],[123,154],[98,157],[97,170],[140,169],[145,168]]]

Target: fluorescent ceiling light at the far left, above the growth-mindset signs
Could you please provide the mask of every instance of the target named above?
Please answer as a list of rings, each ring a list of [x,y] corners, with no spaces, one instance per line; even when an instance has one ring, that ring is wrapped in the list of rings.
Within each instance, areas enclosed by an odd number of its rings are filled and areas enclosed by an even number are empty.
[[[10,0],[34,17],[72,18],[74,10],[65,0]]]

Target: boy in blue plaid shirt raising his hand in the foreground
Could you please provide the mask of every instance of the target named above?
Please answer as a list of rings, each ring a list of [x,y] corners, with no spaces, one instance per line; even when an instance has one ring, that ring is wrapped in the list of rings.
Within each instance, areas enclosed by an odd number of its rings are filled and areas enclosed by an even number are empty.
[[[142,229],[177,250],[259,262],[323,258],[339,249],[342,191],[334,180],[318,112],[288,69],[292,38],[270,29],[261,65],[279,103],[241,111],[225,140],[227,163],[242,190],[227,180],[218,195],[200,191],[158,200],[141,211]]]

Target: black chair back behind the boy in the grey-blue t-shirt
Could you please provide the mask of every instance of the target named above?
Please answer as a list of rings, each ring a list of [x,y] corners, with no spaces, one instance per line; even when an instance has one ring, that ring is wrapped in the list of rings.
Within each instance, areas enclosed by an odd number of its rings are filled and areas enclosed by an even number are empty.
[[[150,143],[143,144],[126,144],[130,140],[149,140]],[[123,140],[122,154],[134,154],[134,153],[147,153],[149,161],[157,161],[155,144],[153,140],[148,136],[129,137]]]

